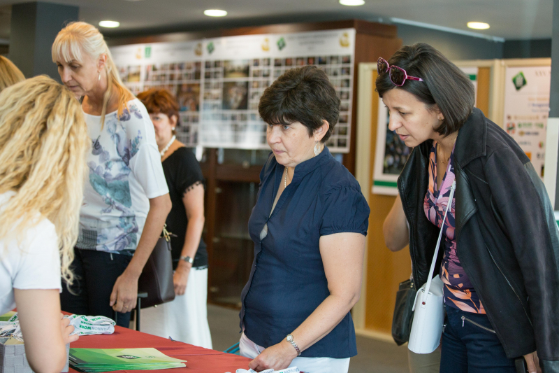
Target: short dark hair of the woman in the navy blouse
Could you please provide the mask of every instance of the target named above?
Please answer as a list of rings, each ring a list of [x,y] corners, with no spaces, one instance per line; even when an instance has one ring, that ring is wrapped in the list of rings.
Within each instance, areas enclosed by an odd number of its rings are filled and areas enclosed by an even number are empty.
[[[340,99],[324,71],[303,66],[286,71],[266,88],[258,111],[269,125],[300,122],[307,127],[309,137],[326,120],[330,126],[321,140],[324,143],[340,117]]]

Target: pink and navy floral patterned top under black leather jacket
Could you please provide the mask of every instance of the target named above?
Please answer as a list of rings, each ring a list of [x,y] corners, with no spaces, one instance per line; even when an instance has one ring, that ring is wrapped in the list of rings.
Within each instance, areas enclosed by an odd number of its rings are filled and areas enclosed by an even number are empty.
[[[454,181],[454,149],[452,150],[449,165],[445,172],[440,190],[437,190],[437,141],[433,141],[433,148],[429,154],[429,187],[423,201],[423,209],[429,221],[437,227],[441,227],[444,211],[449,203],[451,186]],[[460,265],[458,253],[456,252],[456,238],[454,237],[454,205],[447,214],[444,221],[443,239],[444,255],[441,263],[440,277],[444,283],[444,302],[447,306],[461,309],[474,314],[485,314],[484,306],[481,304],[476,290],[470,279],[468,279],[463,267]]]

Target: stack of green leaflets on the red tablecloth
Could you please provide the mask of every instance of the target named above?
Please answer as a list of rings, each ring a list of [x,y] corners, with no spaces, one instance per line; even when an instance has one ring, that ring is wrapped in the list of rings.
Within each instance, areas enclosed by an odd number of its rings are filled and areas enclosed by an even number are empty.
[[[78,372],[160,370],[186,367],[156,349],[70,349],[70,367]]]

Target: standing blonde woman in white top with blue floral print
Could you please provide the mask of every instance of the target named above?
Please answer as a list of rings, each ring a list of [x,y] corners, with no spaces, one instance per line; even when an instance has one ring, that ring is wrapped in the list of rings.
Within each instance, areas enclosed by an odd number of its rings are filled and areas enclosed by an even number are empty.
[[[73,262],[80,280],[63,291],[62,309],[115,317],[127,328],[138,277],[171,208],[154,128],[91,24],[64,27],[52,60],[62,83],[82,99],[92,141]]]

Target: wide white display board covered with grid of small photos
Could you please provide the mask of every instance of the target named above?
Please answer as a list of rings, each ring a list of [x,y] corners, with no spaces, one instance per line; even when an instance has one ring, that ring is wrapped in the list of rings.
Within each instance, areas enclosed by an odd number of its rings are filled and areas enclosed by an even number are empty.
[[[119,74],[138,94],[163,87],[180,106],[177,138],[187,146],[268,149],[258,113],[263,91],[282,73],[323,69],[340,97],[340,119],[327,146],[348,153],[355,29],[207,38],[110,48]]]

